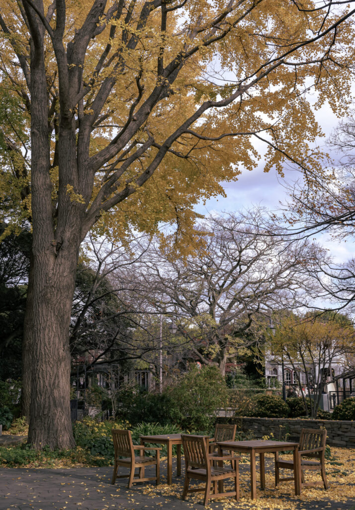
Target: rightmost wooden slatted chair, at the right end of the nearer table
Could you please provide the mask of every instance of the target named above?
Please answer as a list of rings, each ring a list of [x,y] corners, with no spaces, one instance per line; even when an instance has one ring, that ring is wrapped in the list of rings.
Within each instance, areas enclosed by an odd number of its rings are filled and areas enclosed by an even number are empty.
[[[325,476],[325,441],[326,430],[313,430],[311,428],[303,428],[301,437],[299,438],[299,469],[301,471],[301,489],[306,486],[323,485],[324,489],[328,488]],[[305,459],[306,457],[306,459]],[[311,459],[311,460],[307,460]],[[279,453],[275,453],[275,484],[278,486],[280,481],[293,480],[292,478],[280,478],[280,468],[293,469],[293,461],[284,461],[279,459]],[[304,470],[318,470],[323,481],[305,482]]]

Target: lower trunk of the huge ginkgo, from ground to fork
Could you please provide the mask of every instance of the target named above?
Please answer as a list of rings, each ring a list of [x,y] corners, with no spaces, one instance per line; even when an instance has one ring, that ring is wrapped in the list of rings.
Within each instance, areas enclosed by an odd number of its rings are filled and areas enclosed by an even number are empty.
[[[49,246],[50,248],[50,246]],[[34,249],[34,251],[36,251]],[[77,248],[34,253],[28,316],[32,330],[29,443],[35,448],[74,446],[70,420],[69,324]]]

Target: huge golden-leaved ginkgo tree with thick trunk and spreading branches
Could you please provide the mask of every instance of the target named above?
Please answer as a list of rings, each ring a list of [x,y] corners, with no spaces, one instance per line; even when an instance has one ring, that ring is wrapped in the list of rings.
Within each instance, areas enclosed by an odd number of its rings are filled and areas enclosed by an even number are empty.
[[[190,249],[194,203],[253,169],[262,142],[266,171],[287,160],[316,171],[313,109],[329,100],[341,115],[350,101],[354,4],[2,1],[0,193],[13,230],[33,228],[23,401],[34,447],[74,444],[69,321],[89,230],[124,237],[166,221]]]

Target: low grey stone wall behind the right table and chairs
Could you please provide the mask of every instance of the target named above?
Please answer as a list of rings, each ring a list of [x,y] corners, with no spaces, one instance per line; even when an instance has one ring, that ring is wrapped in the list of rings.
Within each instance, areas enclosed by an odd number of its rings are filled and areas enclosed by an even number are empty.
[[[327,444],[355,448],[355,421],[310,420],[302,418],[229,418],[219,419],[219,422],[236,423],[237,430],[251,432],[255,439],[268,436],[271,432],[274,438],[283,440],[288,433],[290,440],[297,441],[302,428],[324,427],[327,431]]]

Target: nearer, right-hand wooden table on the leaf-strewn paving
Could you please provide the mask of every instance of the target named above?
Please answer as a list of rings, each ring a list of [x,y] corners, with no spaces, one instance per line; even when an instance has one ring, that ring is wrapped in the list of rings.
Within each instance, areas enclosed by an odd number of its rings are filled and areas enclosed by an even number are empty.
[[[294,472],[294,493],[296,496],[301,494],[299,483],[299,462],[298,462],[298,443],[288,443],[285,441],[222,441],[217,443],[219,456],[223,450],[230,450],[250,454],[250,481],[252,499],[256,498],[256,465],[255,456],[260,455],[260,487],[265,489],[265,453],[276,453],[282,450],[292,450],[293,452],[293,472]],[[221,489],[223,489],[221,487]]]

